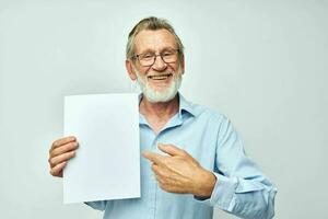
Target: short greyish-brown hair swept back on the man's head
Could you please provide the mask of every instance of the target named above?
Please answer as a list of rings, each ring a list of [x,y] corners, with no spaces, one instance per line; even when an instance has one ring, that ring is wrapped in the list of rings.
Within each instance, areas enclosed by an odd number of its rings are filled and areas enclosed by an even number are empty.
[[[177,46],[178,46],[178,53],[179,53],[179,60],[181,61],[185,54],[184,54],[184,45],[180,38],[175,33],[173,26],[164,19],[159,19],[155,16],[149,16],[143,20],[141,20],[129,33],[127,48],[126,48],[126,57],[127,59],[130,59],[134,55],[134,38],[137,34],[139,34],[141,31],[148,30],[148,31],[157,31],[157,30],[166,30],[169,33],[173,34],[173,36],[176,39]]]

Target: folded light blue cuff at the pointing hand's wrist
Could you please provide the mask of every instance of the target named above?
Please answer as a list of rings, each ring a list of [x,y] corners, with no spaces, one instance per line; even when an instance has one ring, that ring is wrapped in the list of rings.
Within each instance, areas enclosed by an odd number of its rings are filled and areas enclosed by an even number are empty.
[[[212,173],[215,175],[216,182],[211,197],[209,197],[208,199],[195,197],[195,199],[199,203],[209,206],[218,206],[222,210],[229,211],[233,208],[234,194],[238,185],[238,180],[236,177],[230,178],[215,172]]]

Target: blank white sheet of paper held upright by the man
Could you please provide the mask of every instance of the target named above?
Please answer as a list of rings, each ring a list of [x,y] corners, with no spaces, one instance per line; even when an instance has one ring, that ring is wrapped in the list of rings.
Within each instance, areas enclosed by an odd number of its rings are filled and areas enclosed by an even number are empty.
[[[79,148],[63,172],[63,203],[140,197],[138,94],[65,97],[65,136]]]

